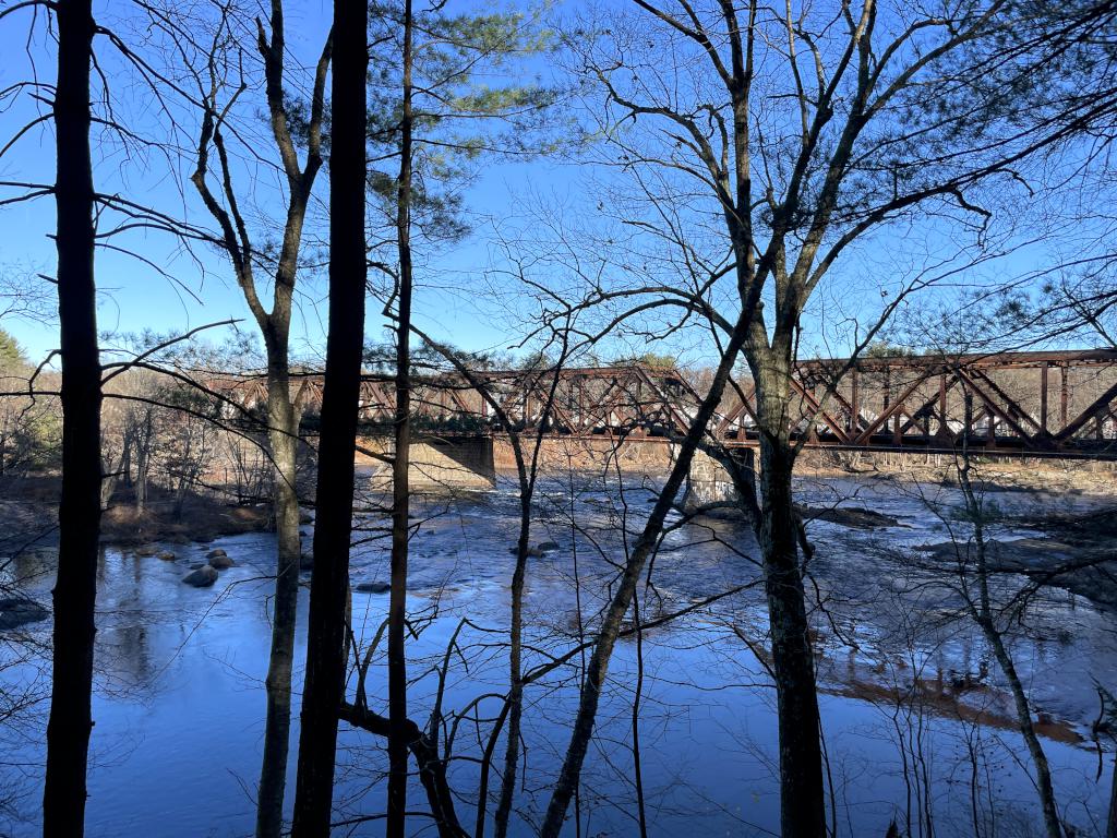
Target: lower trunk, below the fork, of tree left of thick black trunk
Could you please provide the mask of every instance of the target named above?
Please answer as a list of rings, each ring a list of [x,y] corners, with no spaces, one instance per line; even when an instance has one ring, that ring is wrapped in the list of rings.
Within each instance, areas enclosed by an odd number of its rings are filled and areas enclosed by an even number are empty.
[[[287,347],[271,347],[268,364],[268,444],[274,468],[273,511],[276,521],[276,592],[271,611],[264,759],[257,793],[256,835],[279,838],[290,747],[290,691],[295,660],[295,613],[298,607],[298,493],[295,469],[298,420],[290,403]]]

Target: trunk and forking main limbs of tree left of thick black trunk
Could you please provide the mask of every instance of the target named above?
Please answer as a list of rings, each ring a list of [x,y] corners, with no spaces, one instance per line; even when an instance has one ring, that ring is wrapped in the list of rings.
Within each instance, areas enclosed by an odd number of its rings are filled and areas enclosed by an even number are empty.
[[[222,16],[228,13],[222,7]],[[288,114],[289,98],[286,88],[285,60],[287,55],[283,0],[271,0],[268,28],[257,19],[257,49],[264,61],[265,89],[268,116],[276,151],[286,175],[289,196],[287,216],[283,226],[283,244],[273,277],[271,311],[260,298],[256,286],[254,253],[248,225],[245,223],[240,202],[233,190],[235,174],[230,169],[230,154],[226,146],[222,127],[229,118],[232,105],[219,102],[218,94],[226,79],[216,69],[225,66],[218,58],[223,47],[222,39],[214,40],[216,53],[210,55],[207,88],[202,86],[202,122],[198,141],[198,165],[191,181],[198,189],[206,208],[221,228],[221,244],[236,270],[237,283],[245,302],[264,336],[268,356],[268,441],[274,465],[274,510],[278,550],[276,556],[276,599],[271,626],[271,655],[267,676],[267,725],[265,730],[264,760],[260,766],[256,835],[258,838],[279,838],[283,828],[284,793],[286,790],[287,753],[290,740],[290,680],[295,646],[295,611],[298,601],[298,561],[300,554],[298,536],[298,496],[296,492],[296,458],[298,451],[298,418],[290,399],[289,389],[289,330],[295,283],[298,276],[298,258],[303,226],[311,199],[314,181],[322,168],[322,124],[325,112],[325,85],[328,75],[333,32],[326,38],[314,73],[311,92],[309,118],[300,126],[299,133],[306,143],[306,162],[300,168],[298,145],[292,131]],[[183,35],[183,37],[189,37]],[[364,31],[361,31],[364,37]],[[209,91],[207,93],[207,89]],[[233,96],[236,98],[236,95]],[[345,116],[342,115],[342,124]],[[217,151],[220,173],[221,199],[209,185],[211,150]],[[362,169],[363,158],[362,158]],[[362,174],[363,178],[363,174]],[[361,216],[363,218],[363,216]],[[363,231],[362,231],[363,236]],[[361,263],[360,279],[363,288],[364,270]],[[331,292],[333,293],[333,292]],[[363,299],[359,301],[363,323]],[[345,305],[352,306],[351,302]],[[333,314],[331,315],[333,316]],[[361,326],[357,327],[360,333]],[[327,344],[327,353],[328,353]],[[327,364],[328,369],[328,364]],[[350,402],[355,409],[356,398]],[[354,418],[355,420],[355,418]],[[323,447],[330,442],[323,438]],[[352,454],[350,455],[352,459]],[[352,475],[352,463],[350,474]],[[352,484],[352,479],[350,479]],[[344,489],[343,489],[344,492]],[[350,485],[350,504],[352,486]],[[321,498],[319,498],[321,503]],[[327,516],[328,517],[328,516]],[[346,515],[345,526],[352,515]],[[347,531],[346,531],[347,532]],[[346,550],[349,537],[345,540]],[[332,711],[336,714],[336,708]]]

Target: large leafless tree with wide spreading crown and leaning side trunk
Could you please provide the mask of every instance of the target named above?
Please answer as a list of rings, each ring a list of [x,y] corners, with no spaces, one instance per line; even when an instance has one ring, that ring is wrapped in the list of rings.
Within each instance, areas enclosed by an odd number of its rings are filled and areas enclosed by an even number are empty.
[[[1075,31],[1095,10],[1056,21],[997,0],[934,9],[863,2],[832,13],[793,4],[633,4],[636,17],[575,29],[569,44],[602,94],[592,113],[595,133],[610,140],[603,162],[631,178],[628,206],[647,208],[623,222],[647,232],[649,253],[669,254],[658,257],[667,279],[598,283],[588,296],[614,307],[632,301],[613,324],[676,312],[676,323],[710,330],[724,365],[732,368],[738,350],[748,364],[761,434],[755,508],[779,695],[783,832],[817,836],[827,826],[803,589],[809,556],[800,553],[791,489],[801,318],[846,254],[890,223],[955,225],[980,249],[992,217],[977,203],[983,184],[1004,188],[1038,152],[1108,115],[1106,102],[1061,105],[1072,80],[1046,51],[1052,28]],[[1044,68],[1042,102],[1006,101],[1022,74]],[[681,278],[671,280],[672,270]],[[924,282],[886,287],[858,347]],[[712,392],[720,398],[716,379]],[[699,412],[697,420],[707,418]],[[665,495],[675,488],[668,482]],[[630,597],[621,591],[619,613]],[[607,622],[594,660],[602,672],[612,634]],[[544,835],[561,826],[598,677],[591,667]]]

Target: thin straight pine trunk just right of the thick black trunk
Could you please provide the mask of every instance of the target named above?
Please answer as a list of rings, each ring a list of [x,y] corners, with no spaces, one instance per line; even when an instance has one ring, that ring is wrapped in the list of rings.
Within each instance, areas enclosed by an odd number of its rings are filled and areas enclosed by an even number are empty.
[[[388,838],[403,838],[408,796],[408,672],[404,620],[408,597],[408,466],[411,447],[411,0],[403,2],[403,109],[397,235],[400,256],[395,322],[395,455],[392,459],[392,570],[388,606]]]

